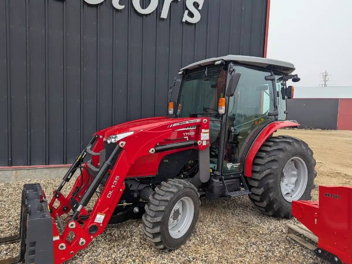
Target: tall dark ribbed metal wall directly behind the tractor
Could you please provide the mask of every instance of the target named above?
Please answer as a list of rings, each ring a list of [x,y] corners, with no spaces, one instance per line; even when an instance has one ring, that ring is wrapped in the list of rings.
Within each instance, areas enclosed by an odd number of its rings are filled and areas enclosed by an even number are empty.
[[[163,2],[0,1],[0,166],[71,163],[94,131],[165,115],[181,66],[263,56],[267,0],[205,0],[196,24]]]

